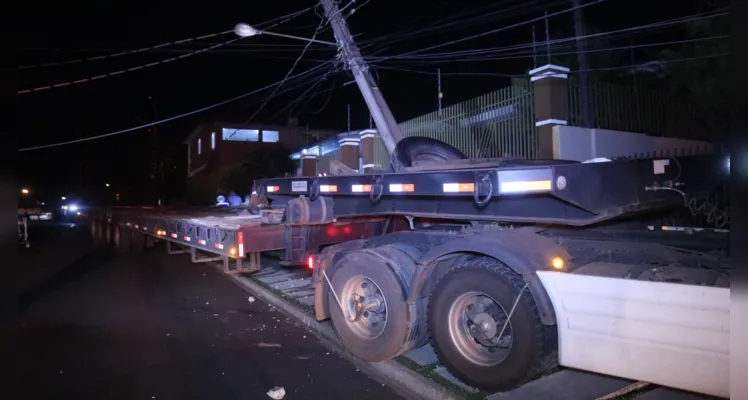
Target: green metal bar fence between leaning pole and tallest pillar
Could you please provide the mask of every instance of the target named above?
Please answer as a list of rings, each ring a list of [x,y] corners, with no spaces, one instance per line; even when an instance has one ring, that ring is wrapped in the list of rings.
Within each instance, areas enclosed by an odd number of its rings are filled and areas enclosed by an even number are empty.
[[[535,158],[537,138],[529,79],[400,124],[403,136],[426,136],[459,149],[470,158]],[[390,165],[381,139],[374,162]]]

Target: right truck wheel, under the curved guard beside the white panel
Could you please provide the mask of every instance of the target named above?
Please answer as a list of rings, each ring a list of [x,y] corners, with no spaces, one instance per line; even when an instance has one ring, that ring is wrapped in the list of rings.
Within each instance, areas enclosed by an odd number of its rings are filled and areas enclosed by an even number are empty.
[[[489,257],[455,266],[439,279],[429,300],[429,333],[439,360],[453,375],[501,391],[522,385],[553,363],[555,326],[540,322],[524,286],[521,275]]]

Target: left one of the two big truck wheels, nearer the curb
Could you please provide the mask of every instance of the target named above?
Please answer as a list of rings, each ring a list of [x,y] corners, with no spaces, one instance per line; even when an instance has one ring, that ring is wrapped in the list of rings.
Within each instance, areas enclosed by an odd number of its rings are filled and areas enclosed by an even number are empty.
[[[332,326],[345,347],[366,361],[384,361],[427,342],[423,301],[409,306],[406,293],[415,263],[405,252],[383,246],[340,259],[331,279],[346,315],[328,293]]]

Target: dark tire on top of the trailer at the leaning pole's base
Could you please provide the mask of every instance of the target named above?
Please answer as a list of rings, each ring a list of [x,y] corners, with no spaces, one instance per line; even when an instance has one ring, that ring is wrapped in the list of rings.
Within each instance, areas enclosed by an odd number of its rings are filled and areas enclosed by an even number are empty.
[[[395,172],[412,167],[414,161],[447,161],[465,159],[464,154],[454,147],[436,139],[423,136],[410,136],[395,145],[390,156],[390,164]]]

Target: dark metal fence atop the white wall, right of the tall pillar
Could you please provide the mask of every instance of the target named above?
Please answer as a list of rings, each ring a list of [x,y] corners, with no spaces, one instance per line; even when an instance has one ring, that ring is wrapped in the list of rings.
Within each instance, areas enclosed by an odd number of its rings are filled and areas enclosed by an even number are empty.
[[[568,82],[568,124],[584,127],[579,85]],[[695,108],[667,93],[629,85],[596,82],[590,85],[594,126],[652,136],[702,140],[707,131],[696,123]]]

